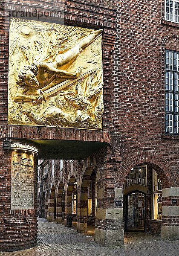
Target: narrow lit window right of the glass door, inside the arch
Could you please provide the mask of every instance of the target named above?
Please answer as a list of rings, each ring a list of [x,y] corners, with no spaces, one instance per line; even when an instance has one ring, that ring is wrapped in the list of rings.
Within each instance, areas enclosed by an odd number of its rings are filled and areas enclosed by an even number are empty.
[[[153,220],[162,220],[162,185],[153,170]]]

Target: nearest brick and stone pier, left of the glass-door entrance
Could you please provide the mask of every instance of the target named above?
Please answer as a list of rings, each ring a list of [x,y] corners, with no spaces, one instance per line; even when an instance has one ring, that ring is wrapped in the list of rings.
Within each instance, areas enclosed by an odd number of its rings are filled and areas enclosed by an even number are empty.
[[[124,244],[122,188],[115,187],[115,172],[115,163],[107,162],[98,182],[95,241],[105,247]],[[115,200],[121,206],[115,206]]]

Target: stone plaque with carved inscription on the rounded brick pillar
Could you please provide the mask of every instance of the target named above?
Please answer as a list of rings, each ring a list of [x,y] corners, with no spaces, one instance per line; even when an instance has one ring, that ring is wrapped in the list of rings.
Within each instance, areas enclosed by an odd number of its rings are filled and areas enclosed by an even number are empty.
[[[34,156],[12,152],[11,209],[34,208]]]

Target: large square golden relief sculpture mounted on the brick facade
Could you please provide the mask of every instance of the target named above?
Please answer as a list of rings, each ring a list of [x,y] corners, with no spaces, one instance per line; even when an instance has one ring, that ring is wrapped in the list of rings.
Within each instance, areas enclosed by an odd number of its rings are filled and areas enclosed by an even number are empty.
[[[102,29],[10,20],[8,124],[102,129]]]

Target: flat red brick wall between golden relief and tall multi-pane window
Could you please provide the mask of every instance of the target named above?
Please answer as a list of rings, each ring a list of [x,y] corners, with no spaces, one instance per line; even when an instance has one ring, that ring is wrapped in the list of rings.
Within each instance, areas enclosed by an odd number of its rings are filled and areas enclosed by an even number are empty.
[[[179,25],[161,24],[161,0],[125,0],[118,5],[117,16],[110,128],[119,134],[124,159],[139,151],[155,151],[170,163],[176,184],[179,137],[163,138],[162,41],[167,35],[178,35]]]

